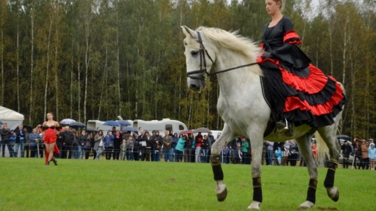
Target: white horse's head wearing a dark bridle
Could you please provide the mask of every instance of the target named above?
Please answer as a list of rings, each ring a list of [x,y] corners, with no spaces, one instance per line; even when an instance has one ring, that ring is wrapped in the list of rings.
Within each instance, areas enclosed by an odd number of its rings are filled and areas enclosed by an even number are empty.
[[[193,31],[187,26],[182,26],[182,31],[185,34],[185,60],[187,64],[187,83],[191,90],[199,91],[205,87],[205,78],[210,73],[210,69],[214,63],[210,53],[210,49],[205,49],[203,39],[205,36],[202,32]]]

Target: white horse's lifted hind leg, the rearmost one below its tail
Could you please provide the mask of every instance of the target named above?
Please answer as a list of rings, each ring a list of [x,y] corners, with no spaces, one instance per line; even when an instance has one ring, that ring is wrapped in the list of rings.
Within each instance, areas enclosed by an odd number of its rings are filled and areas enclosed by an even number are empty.
[[[319,128],[318,132],[320,136],[327,144],[329,149],[330,160],[328,164],[327,176],[324,180],[324,187],[327,188],[327,194],[333,201],[338,201],[339,191],[337,187],[334,187],[334,175],[336,174],[336,168],[338,167],[338,158],[340,155],[340,146],[336,139],[336,126],[326,126]]]

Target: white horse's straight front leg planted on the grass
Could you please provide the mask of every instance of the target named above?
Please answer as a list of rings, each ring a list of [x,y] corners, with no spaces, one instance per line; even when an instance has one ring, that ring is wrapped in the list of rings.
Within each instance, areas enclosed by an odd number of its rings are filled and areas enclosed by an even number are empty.
[[[251,140],[253,201],[251,205],[248,206],[249,210],[260,210],[260,204],[263,202],[263,191],[261,189],[261,160],[263,159],[263,144],[263,137]]]

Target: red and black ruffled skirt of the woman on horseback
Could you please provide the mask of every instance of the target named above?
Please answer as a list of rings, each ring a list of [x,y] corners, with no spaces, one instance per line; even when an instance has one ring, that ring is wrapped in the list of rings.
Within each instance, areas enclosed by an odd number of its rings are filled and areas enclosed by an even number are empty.
[[[308,124],[314,128],[329,126],[343,110],[345,91],[336,79],[326,76],[318,67],[294,69],[274,58],[258,58],[267,99],[277,118],[285,118],[295,126]]]

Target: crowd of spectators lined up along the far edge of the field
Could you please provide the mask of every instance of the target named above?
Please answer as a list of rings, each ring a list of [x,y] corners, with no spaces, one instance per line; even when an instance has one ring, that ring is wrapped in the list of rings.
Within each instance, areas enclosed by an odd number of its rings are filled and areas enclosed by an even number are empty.
[[[1,126],[0,126],[1,127]],[[43,158],[43,135],[37,128],[32,131],[18,126],[9,130],[3,124],[1,131],[0,152],[5,157],[8,148],[10,157]],[[30,133],[29,133],[30,132]],[[220,135],[220,134],[219,134]],[[218,137],[219,137],[218,135]],[[217,138],[218,138],[217,137]],[[210,148],[216,141],[212,133],[196,136],[192,133],[180,134],[164,131],[160,135],[158,130],[141,130],[139,133],[119,131],[116,127],[103,132],[86,131],[84,129],[65,126],[56,144],[61,151],[57,158],[95,160],[141,160],[158,162],[210,162]],[[373,140],[355,139],[353,143],[341,143],[343,168],[354,165],[357,169],[375,169],[376,149]],[[315,141],[312,143],[313,156],[318,153]],[[102,155],[102,158],[101,158]],[[304,166],[304,160],[299,155],[295,140],[286,142],[264,142],[263,160],[266,165]],[[246,137],[238,137],[221,150],[221,162],[224,164],[250,164],[251,142]]]

